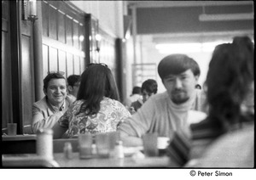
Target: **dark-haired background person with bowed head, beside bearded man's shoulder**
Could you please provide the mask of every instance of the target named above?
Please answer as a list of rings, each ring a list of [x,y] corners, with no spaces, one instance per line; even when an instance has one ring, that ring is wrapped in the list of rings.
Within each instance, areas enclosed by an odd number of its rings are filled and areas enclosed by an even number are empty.
[[[143,82],[142,86],[143,99],[139,98],[137,101],[131,103],[130,112],[134,114],[139,108],[148,100],[148,98],[157,93],[157,82],[154,79],[148,79]]]

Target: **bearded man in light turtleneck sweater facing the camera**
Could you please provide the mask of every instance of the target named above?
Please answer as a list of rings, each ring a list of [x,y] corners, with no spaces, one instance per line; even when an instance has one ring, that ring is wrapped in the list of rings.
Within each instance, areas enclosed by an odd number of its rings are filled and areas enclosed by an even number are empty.
[[[143,145],[142,136],[148,132],[168,138],[174,132],[182,132],[190,138],[189,110],[201,110],[195,89],[199,65],[187,55],[172,54],[160,61],[158,73],[166,92],[148,98],[136,114],[120,125],[120,137],[126,146]]]

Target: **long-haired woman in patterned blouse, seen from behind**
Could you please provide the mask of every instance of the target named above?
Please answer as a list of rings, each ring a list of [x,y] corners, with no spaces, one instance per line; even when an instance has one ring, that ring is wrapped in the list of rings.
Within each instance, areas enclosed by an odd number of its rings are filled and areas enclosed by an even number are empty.
[[[114,132],[130,116],[119,102],[111,70],[105,64],[90,64],[81,75],[77,101],[53,127],[54,138],[67,131],[69,138],[80,133]]]

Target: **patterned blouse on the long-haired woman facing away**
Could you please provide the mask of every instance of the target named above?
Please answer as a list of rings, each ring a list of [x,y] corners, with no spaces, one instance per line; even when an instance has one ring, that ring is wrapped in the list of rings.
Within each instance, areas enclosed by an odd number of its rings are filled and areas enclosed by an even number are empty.
[[[74,102],[59,120],[61,127],[68,127],[69,138],[78,136],[79,133],[115,132],[120,122],[131,116],[123,104],[106,97],[102,99],[101,108],[96,115],[77,115],[83,103],[84,100]]]

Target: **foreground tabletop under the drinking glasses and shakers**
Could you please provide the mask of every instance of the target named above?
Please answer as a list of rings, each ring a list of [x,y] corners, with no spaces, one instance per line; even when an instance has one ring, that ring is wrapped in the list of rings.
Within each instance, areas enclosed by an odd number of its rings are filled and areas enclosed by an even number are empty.
[[[3,167],[4,165],[8,165],[7,167],[12,167],[12,162],[22,161],[27,163],[28,165],[33,164],[35,160],[41,160],[37,154],[8,154],[2,155]],[[14,163],[17,165],[17,163]],[[63,152],[54,153],[53,160],[49,160],[49,163],[57,168],[139,168],[139,167],[156,167],[156,168],[170,168],[176,167],[177,165],[172,162],[169,156],[161,155],[154,157],[147,157],[143,154],[140,155],[125,155],[124,158],[116,158],[116,157],[98,157],[91,156],[90,158],[80,158],[79,152],[73,152],[70,157],[67,157]],[[20,165],[20,163],[18,163]],[[20,166],[26,166],[21,165]],[[49,166],[47,166],[49,167]]]

